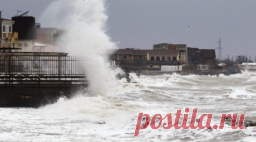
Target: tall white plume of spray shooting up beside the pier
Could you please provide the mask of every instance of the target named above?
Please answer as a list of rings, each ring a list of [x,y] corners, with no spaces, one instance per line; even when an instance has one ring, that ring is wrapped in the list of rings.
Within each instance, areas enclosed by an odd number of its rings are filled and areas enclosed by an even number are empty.
[[[115,84],[115,73],[109,69],[108,55],[116,44],[106,34],[105,1],[54,1],[42,13],[40,21],[51,26],[67,28],[68,33],[58,40],[61,52],[86,57],[86,77],[93,95],[105,95]]]

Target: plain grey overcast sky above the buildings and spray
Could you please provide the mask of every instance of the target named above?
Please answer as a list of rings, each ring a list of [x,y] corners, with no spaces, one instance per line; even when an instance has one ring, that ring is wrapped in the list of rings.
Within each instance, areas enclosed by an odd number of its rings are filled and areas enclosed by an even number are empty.
[[[52,0],[0,2],[3,18],[11,19],[19,9],[29,11],[41,27],[56,26],[38,21]],[[107,33],[119,48],[152,49],[153,44],[174,43],[214,49],[221,38],[223,58],[242,54],[255,61],[255,0],[106,0],[106,7]]]

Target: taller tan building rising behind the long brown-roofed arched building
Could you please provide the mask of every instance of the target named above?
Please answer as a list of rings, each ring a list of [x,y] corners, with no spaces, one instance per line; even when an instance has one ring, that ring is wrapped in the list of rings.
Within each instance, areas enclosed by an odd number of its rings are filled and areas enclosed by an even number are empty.
[[[154,50],[178,50],[179,51],[179,62],[180,64],[188,64],[188,50],[186,44],[169,44],[160,43],[153,45]]]

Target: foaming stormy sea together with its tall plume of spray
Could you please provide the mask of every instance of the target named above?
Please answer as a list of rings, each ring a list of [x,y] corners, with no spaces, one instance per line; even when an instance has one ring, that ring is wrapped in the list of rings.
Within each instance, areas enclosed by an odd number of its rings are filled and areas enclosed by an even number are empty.
[[[197,117],[213,114],[211,125],[219,125],[221,114],[245,114],[246,120],[256,121],[256,73],[131,73],[137,83],[116,79],[121,71],[109,68],[106,55],[118,44],[107,34],[107,17],[103,0],[53,1],[42,13],[41,21],[72,31],[62,39],[68,39],[63,52],[91,58],[93,66],[86,66],[88,90],[38,109],[0,108],[0,141],[255,141],[255,127],[233,130],[229,124],[223,130],[149,126],[134,137],[139,113],[174,116],[178,109],[184,114],[185,108],[198,108]]]

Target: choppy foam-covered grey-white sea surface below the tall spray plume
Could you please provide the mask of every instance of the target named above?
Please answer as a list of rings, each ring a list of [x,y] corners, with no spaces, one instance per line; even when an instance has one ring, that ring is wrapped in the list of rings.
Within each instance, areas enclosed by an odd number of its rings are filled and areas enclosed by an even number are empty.
[[[176,113],[199,109],[213,114],[245,114],[256,120],[256,74],[230,76],[160,75],[132,77],[139,83],[115,80],[106,97],[77,95],[40,109],[0,108],[0,141],[255,141],[256,128],[233,130],[140,130],[134,137],[138,113]],[[103,123],[105,124],[99,124]]]

